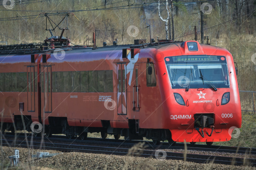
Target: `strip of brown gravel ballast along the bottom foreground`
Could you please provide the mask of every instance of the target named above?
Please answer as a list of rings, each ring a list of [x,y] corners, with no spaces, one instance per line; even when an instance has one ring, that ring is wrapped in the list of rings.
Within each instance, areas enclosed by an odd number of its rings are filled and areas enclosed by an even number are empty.
[[[200,164],[178,160],[158,160],[133,156],[117,156],[70,152],[49,158],[32,159],[36,152],[59,153],[56,150],[33,150],[27,148],[1,147],[1,167],[9,165],[8,156],[14,150],[20,152],[20,168],[22,169],[256,169],[248,166],[232,166],[222,164]]]

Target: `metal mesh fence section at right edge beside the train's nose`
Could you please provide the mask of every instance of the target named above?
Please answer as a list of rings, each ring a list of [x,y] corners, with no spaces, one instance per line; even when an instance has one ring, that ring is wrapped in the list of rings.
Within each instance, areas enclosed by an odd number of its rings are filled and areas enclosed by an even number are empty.
[[[256,112],[254,91],[239,91],[242,111]]]

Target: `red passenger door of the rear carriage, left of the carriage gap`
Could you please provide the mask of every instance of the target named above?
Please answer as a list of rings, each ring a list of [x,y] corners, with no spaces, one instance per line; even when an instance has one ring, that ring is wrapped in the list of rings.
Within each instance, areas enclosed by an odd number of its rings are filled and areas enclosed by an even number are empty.
[[[27,111],[35,111],[35,67],[27,66]]]

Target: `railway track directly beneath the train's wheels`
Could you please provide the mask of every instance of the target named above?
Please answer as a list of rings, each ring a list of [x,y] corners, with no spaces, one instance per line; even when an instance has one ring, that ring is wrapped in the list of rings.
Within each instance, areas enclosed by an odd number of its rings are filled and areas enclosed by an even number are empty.
[[[27,133],[30,134],[31,133]],[[14,133],[6,133],[5,137],[14,137]],[[17,134],[18,137],[23,137],[24,134]],[[30,139],[31,136],[28,136]],[[41,139],[41,137],[33,137],[34,139]],[[106,144],[106,145],[118,145],[118,146],[133,146],[136,143],[142,142],[141,140],[122,140],[122,139],[101,139],[101,138],[87,138],[86,140],[79,140],[79,138],[74,139],[67,139],[66,136],[62,135],[52,135],[51,138],[46,138],[51,140],[61,140],[65,141],[66,143],[91,143],[91,144]],[[176,149],[184,150],[183,143],[176,143],[174,146],[170,146],[167,142],[161,142],[160,145],[154,145],[151,141],[144,141],[147,148],[157,148],[157,149]],[[234,147],[234,146],[219,146],[219,145],[211,145],[207,146],[204,144],[187,144],[187,150],[198,150],[198,151],[211,151],[211,152],[227,152],[227,153],[240,153],[240,154],[253,154],[256,155],[256,148],[246,148],[246,147]]]

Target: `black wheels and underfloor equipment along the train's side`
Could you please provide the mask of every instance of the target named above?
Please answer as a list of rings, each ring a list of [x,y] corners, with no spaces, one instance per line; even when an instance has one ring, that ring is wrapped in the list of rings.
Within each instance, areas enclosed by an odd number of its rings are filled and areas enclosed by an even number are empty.
[[[15,130],[31,130],[32,119],[31,116],[14,116],[14,123],[1,123],[1,132],[5,130],[15,132]],[[49,125],[42,126],[42,130],[38,125],[34,129],[39,129],[40,133],[34,133],[34,136],[46,134],[46,137],[51,137],[52,134],[65,134],[69,139],[73,137],[80,137],[84,140],[88,133],[101,133],[101,138],[107,138],[107,135],[113,135],[115,139],[124,136],[126,140],[143,140],[152,139],[153,144],[159,144],[160,141],[168,140],[169,144],[175,144],[171,138],[169,129],[144,129],[139,128],[138,120],[129,120],[129,128],[113,128],[110,126],[110,121],[102,120],[102,127],[80,127],[69,126],[66,117],[49,117]]]

